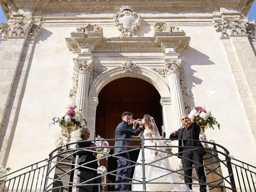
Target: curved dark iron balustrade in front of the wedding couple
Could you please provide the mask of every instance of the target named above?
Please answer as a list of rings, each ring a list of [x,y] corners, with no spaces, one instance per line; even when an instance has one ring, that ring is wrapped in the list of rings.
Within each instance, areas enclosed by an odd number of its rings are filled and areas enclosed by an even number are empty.
[[[115,139],[104,139],[105,141],[115,141]],[[104,141],[101,140],[101,141]],[[142,149],[142,162],[144,162],[144,149],[150,149],[150,150],[157,150],[160,152],[164,152],[168,154],[168,156],[165,156],[163,158],[160,158],[154,162],[160,161],[165,158],[170,158],[170,160],[176,160],[177,157],[180,156],[180,153],[172,153],[172,152],[166,152],[165,150],[160,150],[159,148],[152,148],[152,146],[146,146],[144,145],[144,140],[149,140],[149,139],[118,139],[118,140],[139,140],[141,141],[141,145],[139,146],[122,146],[122,147],[127,147],[129,148],[125,152],[133,152]],[[169,139],[154,139],[154,140],[169,140]],[[180,140],[180,139],[171,139],[172,141],[174,140]],[[78,142],[94,142],[96,140],[87,140],[87,141],[78,141]],[[99,140],[97,140],[99,141]],[[194,140],[190,140],[194,141]],[[5,191],[39,191],[39,192],[62,192],[62,191],[69,191],[71,192],[73,188],[76,187],[82,187],[82,186],[89,186],[89,185],[95,185],[95,184],[88,184],[88,182],[92,181],[94,178],[90,178],[86,180],[85,182],[82,183],[77,183],[74,181],[74,176],[76,176],[75,170],[81,166],[84,168],[88,168],[91,170],[95,170],[92,168],[89,168],[86,166],[88,163],[83,164],[83,165],[78,165],[76,164],[76,152],[80,150],[85,150],[85,151],[91,151],[95,152],[97,148],[119,148],[120,146],[100,146],[100,147],[89,147],[89,148],[79,148],[79,149],[72,149],[71,147],[74,146],[76,143],[70,143],[64,147],[56,148],[54,151],[52,151],[49,155],[49,158],[47,160],[42,160],[40,162],[37,162],[35,164],[32,164],[30,166],[27,166],[25,168],[22,168],[18,171],[12,172],[6,176],[12,177],[8,180],[4,180],[0,182],[0,192],[5,192]],[[201,141],[202,142],[202,141]],[[255,181],[256,181],[256,167],[246,164],[242,161],[236,160],[234,158],[231,158],[229,155],[228,150],[226,148],[215,144],[211,142],[202,142],[202,143],[208,143],[212,147],[207,148],[206,152],[210,158],[212,158],[214,161],[209,162],[209,163],[204,163],[203,166],[205,170],[207,170],[207,174],[214,174],[217,176],[218,179],[207,181],[206,183],[198,183],[198,178],[193,178],[193,186],[199,186],[199,185],[206,185],[208,186],[209,190],[213,189],[219,189],[219,191],[224,192],[226,190],[228,191],[233,191],[233,192],[252,192],[256,191],[255,189]],[[161,148],[167,148],[167,146],[156,146],[156,147],[161,147]],[[180,146],[171,146],[172,148],[179,148]],[[217,150],[218,147],[218,150]],[[199,147],[189,147],[188,150],[197,150],[197,149],[205,149],[205,148],[199,148]],[[120,152],[118,154],[105,154],[102,152],[97,152],[100,154],[104,154],[104,157],[99,158],[98,160],[114,157],[114,158],[120,158],[118,156],[119,154],[122,154],[124,152]],[[206,155],[207,155],[206,154]],[[220,156],[220,157],[219,157]],[[97,160],[94,160],[97,161]],[[143,176],[142,176],[142,181],[139,180],[134,180],[132,178],[129,178],[132,182],[136,183],[122,183],[122,184],[142,184],[144,191],[146,191],[146,184],[170,184],[170,183],[159,183],[159,182],[154,182],[154,180],[149,180],[146,181],[145,178],[145,166],[155,166],[154,162],[150,163],[138,163],[132,160],[128,160],[131,162],[131,166],[142,166],[142,171],[143,171]],[[232,161],[232,162],[231,162]],[[217,164],[221,165],[222,168],[222,173],[227,172],[227,175],[222,175],[218,168],[219,166],[216,166]],[[212,165],[215,165],[216,168],[211,168]],[[157,168],[160,168],[158,166],[155,166]],[[122,169],[122,168],[121,168]],[[119,170],[121,170],[119,169]],[[47,170],[45,172],[45,170]],[[170,174],[180,174],[184,176],[184,173],[182,172],[183,168],[178,169],[178,170],[170,170],[166,169],[170,172]],[[234,170],[234,174],[233,174]],[[239,171],[240,170],[240,171]],[[117,170],[112,170],[110,172],[102,172],[100,175],[98,175],[95,178],[102,178],[106,176],[116,176],[116,171]],[[17,175],[18,174],[18,175]],[[248,176],[249,174],[249,176]],[[235,178],[234,178],[235,176]],[[5,177],[5,176],[4,176]],[[4,177],[0,177],[0,180],[2,180]],[[124,176],[122,176],[124,177]],[[236,188],[236,183],[239,184],[239,188]],[[42,186],[44,184],[44,186]],[[99,182],[96,184],[99,188],[99,191],[104,189],[104,186],[110,186],[118,183],[108,183],[108,182]],[[184,184],[188,188],[188,183],[173,183],[173,184]],[[103,186],[103,187],[102,187]],[[189,191],[189,190],[188,190]]]

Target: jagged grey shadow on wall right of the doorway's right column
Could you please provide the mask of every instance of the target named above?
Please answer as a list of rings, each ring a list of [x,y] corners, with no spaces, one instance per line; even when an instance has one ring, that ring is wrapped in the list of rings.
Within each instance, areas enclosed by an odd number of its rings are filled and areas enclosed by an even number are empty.
[[[186,86],[190,92],[189,101],[187,104],[194,105],[194,95],[191,92],[192,87],[202,84],[203,80],[194,75],[197,71],[193,70],[191,66],[215,65],[215,63],[209,60],[209,56],[190,46],[186,50],[184,50],[181,56],[184,57],[184,73],[186,76]]]

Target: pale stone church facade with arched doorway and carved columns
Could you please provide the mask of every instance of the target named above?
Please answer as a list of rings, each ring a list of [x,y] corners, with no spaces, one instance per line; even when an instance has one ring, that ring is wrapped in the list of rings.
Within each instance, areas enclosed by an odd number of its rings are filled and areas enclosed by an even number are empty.
[[[255,163],[252,2],[2,0],[0,164],[47,158],[64,137],[48,124],[69,105],[82,109],[92,139],[114,138],[124,111],[156,116],[168,137],[189,106],[206,105],[221,125],[208,140]]]

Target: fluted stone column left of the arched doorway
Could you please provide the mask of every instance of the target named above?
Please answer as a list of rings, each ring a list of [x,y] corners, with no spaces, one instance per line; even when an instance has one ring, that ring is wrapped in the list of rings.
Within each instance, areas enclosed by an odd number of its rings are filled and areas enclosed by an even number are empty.
[[[93,60],[74,59],[74,71],[78,74],[78,85],[76,92],[76,106],[82,109],[84,118],[87,118],[89,80],[92,72]],[[80,140],[80,129],[72,132],[70,142]]]

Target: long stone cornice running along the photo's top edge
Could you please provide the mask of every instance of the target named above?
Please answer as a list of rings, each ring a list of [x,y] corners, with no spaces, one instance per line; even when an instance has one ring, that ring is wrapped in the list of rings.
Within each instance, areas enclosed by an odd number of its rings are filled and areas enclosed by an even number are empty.
[[[36,10],[45,12],[58,11],[119,11],[123,5],[129,5],[136,11],[172,11],[172,10],[211,10],[219,14],[246,15],[253,0],[1,0],[2,7],[8,18],[10,8],[7,4],[16,4],[28,8],[36,6]],[[225,8],[227,8],[225,10]],[[227,11],[228,10],[228,11]]]

